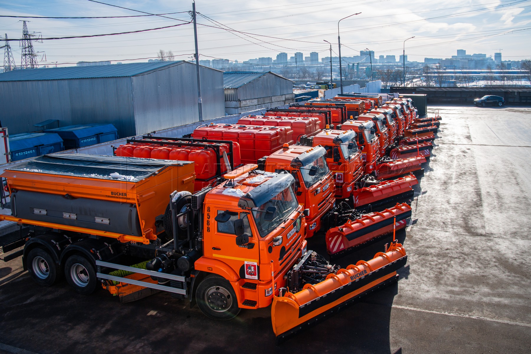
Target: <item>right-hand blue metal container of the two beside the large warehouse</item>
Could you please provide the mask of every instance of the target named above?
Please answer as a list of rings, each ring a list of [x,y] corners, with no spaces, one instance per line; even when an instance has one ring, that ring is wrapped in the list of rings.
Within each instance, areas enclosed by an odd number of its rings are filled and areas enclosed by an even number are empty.
[[[63,139],[65,150],[118,139],[118,131],[112,124],[77,124],[46,129],[44,132],[59,134]]]

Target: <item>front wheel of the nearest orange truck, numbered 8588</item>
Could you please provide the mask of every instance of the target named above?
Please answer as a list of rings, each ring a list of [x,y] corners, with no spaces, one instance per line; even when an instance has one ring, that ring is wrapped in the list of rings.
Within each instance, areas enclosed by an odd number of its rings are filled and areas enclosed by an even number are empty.
[[[230,320],[240,310],[232,285],[219,275],[204,278],[195,299],[201,312],[214,320]]]

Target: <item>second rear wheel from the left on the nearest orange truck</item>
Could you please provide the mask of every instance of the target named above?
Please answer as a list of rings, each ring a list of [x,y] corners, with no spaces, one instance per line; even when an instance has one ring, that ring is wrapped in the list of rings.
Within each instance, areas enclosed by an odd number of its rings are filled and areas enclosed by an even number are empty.
[[[65,278],[66,282],[82,295],[90,295],[98,285],[94,265],[79,254],[74,254],[66,260]]]

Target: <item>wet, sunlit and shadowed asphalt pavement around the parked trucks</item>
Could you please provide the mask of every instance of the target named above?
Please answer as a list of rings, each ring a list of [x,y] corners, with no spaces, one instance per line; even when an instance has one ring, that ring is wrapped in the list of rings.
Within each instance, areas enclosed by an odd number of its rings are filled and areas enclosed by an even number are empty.
[[[397,284],[280,345],[270,308],[213,321],[168,293],[129,304],[0,263],[0,352],[529,353],[531,108],[432,106],[442,116],[398,237]],[[323,237],[310,245],[324,251]],[[389,239],[338,260],[371,258]]]

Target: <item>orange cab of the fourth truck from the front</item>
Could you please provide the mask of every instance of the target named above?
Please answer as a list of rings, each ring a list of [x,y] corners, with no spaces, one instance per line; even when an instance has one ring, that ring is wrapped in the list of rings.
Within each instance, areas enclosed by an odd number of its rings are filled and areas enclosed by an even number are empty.
[[[361,159],[365,174],[375,171],[376,161],[380,159],[380,141],[373,121],[349,119],[338,128],[342,131],[352,129],[356,133],[356,142],[362,153]]]

